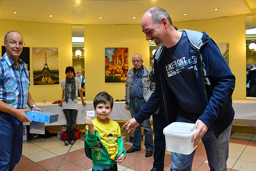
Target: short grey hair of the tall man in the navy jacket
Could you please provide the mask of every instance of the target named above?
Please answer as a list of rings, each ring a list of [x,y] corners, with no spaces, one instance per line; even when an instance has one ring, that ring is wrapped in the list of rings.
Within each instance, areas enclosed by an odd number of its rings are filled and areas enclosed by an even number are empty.
[[[170,18],[168,12],[165,9],[154,7],[147,11],[151,14],[153,23],[160,24],[162,18],[164,17],[172,25],[172,19]]]

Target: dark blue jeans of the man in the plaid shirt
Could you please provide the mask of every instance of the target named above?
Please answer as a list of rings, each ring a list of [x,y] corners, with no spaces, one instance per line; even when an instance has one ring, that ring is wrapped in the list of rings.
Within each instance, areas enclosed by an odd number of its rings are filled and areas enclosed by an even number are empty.
[[[12,171],[22,156],[23,123],[0,112],[0,171]]]

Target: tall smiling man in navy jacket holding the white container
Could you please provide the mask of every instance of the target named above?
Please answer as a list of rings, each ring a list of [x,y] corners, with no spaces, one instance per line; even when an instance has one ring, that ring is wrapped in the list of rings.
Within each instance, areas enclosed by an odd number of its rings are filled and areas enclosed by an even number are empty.
[[[225,171],[234,119],[231,96],[235,77],[219,48],[205,32],[176,31],[164,9],[149,9],[141,26],[146,39],[160,46],[154,54],[155,91],[123,127],[131,132],[162,105],[168,124],[195,123],[191,129],[197,129],[192,138],[194,147],[202,140],[211,171]],[[171,171],[190,171],[194,153],[172,153]],[[162,168],[151,171],[159,170]]]

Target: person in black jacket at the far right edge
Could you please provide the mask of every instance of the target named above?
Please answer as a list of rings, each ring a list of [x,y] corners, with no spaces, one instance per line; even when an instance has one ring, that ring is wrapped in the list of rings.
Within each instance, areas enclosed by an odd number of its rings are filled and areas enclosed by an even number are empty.
[[[246,84],[250,81],[251,96],[256,97],[256,68],[255,65],[250,66],[248,71]]]

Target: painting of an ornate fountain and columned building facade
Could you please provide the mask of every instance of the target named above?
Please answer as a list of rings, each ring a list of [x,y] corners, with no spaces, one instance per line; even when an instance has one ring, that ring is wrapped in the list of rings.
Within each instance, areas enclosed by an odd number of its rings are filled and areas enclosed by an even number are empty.
[[[128,48],[105,48],[105,83],[125,83]]]

